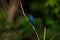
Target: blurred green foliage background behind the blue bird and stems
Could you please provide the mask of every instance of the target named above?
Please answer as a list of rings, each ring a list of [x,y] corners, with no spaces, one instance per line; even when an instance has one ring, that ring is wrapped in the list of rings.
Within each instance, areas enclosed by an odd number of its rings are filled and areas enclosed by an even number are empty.
[[[60,40],[60,0],[21,1],[27,17],[29,14],[33,15],[40,39],[43,40],[43,30],[46,26],[46,40],[50,40],[56,34],[58,35],[53,40]],[[7,3],[9,6],[10,0],[7,0]],[[4,9],[0,1],[0,40],[37,40],[34,30],[23,14],[16,12],[14,21],[10,22],[7,9]],[[20,7],[18,9],[20,10]]]

